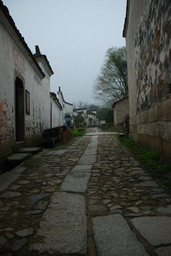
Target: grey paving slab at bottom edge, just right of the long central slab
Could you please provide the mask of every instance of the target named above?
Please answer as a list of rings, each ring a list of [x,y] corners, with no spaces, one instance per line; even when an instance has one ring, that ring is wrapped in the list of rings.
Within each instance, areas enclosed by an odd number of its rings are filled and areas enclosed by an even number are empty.
[[[93,231],[99,256],[148,255],[120,214],[93,218]]]

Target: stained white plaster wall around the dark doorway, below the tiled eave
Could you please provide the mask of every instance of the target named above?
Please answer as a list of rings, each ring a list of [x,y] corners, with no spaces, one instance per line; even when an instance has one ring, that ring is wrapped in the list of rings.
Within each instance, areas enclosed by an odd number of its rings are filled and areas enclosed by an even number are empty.
[[[15,79],[24,86],[25,146],[38,145],[41,133],[50,128],[50,77],[41,74],[0,10],[0,162],[15,152]],[[44,70],[45,72],[45,70]],[[30,115],[26,114],[25,90],[30,93]]]

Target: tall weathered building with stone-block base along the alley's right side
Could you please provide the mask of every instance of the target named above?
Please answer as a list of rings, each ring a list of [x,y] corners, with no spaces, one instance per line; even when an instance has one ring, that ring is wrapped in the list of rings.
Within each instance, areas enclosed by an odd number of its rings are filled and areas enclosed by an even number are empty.
[[[171,1],[127,0],[130,136],[171,160]]]

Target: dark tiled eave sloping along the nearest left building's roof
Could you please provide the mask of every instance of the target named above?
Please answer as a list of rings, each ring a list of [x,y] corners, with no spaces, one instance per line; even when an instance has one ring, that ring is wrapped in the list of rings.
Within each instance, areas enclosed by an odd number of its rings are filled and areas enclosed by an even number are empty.
[[[16,35],[18,36],[18,38],[20,39],[20,41],[22,42],[23,46],[26,48],[27,52],[29,53],[30,57],[33,59],[36,67],[38,68],[38,70],[40,71],[41,75],[43,77],[45,77],[44,72],[42,72],[41,68],[39,67],[37,61],[35,60],[30,48],[28,47],[25,38],[22,36],[22,34],[19,32],[19,30],[17,29],[17,27],[15,26],[14,20],[11,17],[8,8],[3,4],[3,1],[0,0],[0,9],[2,9],[4,15],[6,16],[6,18],[8,19],[11,27],[13,28],[13,30],[15,31]]]

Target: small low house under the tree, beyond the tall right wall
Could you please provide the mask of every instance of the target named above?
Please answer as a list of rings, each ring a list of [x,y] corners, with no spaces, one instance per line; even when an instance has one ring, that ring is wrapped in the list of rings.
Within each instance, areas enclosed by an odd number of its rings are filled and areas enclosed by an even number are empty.
[[[114,125],[123,122],[129,116],[129,99],[127,96],[113,103]]]

